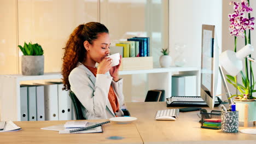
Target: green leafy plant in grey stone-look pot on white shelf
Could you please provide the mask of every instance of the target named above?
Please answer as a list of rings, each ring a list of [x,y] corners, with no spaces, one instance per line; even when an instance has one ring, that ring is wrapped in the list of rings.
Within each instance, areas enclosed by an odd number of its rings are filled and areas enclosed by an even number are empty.
[[[22,75],[43,75],[44,74],[44,51],[39,44],[24,43],[19,45],[23,53],[21,57]]]

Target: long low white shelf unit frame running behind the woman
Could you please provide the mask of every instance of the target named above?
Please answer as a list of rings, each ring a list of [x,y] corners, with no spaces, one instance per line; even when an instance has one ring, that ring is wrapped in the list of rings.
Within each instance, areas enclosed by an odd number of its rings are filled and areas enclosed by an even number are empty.
[[[200,69],[196,67],[153,68],[146,70],[119,71],[119,75],[148,74],[149,89],[164,89],[171,97],[172,74],[193,74],[197,76],[197,94],[200,92]],[[20,121],[20,83],[32,80],[61,79],[60,73],[45,73],[38,76],[0,75],[0,119]]]

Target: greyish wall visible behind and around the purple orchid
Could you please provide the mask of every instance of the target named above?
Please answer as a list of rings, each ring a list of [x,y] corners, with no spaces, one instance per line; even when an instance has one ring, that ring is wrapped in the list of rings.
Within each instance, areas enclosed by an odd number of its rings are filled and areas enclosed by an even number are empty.
[[[251,17],[256,17],[256,1],[250,1],[250,5],[251,7],[253,8],[253,13],[251,13]],[[233,13],[233,9],[232,9],[232,5],[229,5],[229,2],[228,1],[223,1],[223,23],[222,23],[222,27],[223,27],[223,31],[222,31],[222,37],[223,37],[223,44],[222,44],[222,47],[223,47],[223,51],[225,50],[234,50],[234,36],[231,36],[229,33],[229,25],[230,25],[230,22],[229,22],[229,18],[228,18],[228,14],[230,13]],[[255,22],[255,21],[254,21]],[[247,32],[248,33],[248,32]],[[256,45],[256,31],[251,31],[251,43],[252,45],[254,45],[254,49],[255,49],[255,45]],[[245,40],[241,37],[238,37],[237,38],[237,50],[240,50],[243,46],[245,46]],[[253,58],[256,58],[256,53],[252,53],[252,57]],[[245,68],[245,63],[243,63],[243,67]],[[256,68],[255,68],[255,63],[252,64],[252,67],[253,67],[253,71],[254,71],[254,74],[255,71],[256,71]],[[240,79],[240,75],[238,75],[238,83],[242,83]],[[235,94],[236,93],[236,90],[235,88],[228,84],[228,87],[230,89],[230,92],[232,94]],[[223,89],[223,92],[224,92],[224,89]]]

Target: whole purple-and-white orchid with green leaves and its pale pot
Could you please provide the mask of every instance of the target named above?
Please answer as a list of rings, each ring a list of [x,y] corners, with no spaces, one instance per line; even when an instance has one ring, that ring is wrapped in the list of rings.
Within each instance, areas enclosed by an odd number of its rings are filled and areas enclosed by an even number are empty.
[[[249,0],[241,0],[241,3],[230,2],[230,5],[231,4],[234,4],[234,13],[229,14],[229,20],[231,22],[229,30],[230,34],[235,36],[234,51],[236,52],[237,37],[241,36],[242,38],[245,38],[245,45],[251,44],[251,30],[254,29],[254,17],[251,17],[250,15],[253,9],[249,7]],[[248,13],[248,17],[246,17],[246,13]],[[248,37],[246,33],[247,30]],[[249,57],[251,57],[251,55],[249,55]],[[242,84],[237,83],[237,76],[226,75],[227,81],[240,92],[240,94],[237,93],[232,95],[232,97],[236,97],[235,103],[236,110],[239,111],[239,121],[245,121],[245,105],[248,105],[248,121],[254,122],[256,121],[256,101],[255,97],[253,97],[253,93],[256,92],[256,90],[254,89],[255,81],[252,62],[248,61],[247,58],[245,58],[245,73],[240,71],[240,74],[242,77]]]

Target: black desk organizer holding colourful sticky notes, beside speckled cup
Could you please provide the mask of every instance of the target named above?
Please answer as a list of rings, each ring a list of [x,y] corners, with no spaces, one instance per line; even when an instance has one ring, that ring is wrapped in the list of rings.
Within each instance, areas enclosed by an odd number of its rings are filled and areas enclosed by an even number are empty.
[[[202,109],[203,110],[203,109]],[[221,119],[220,111],[214,111],[212,110],[210,113],[205,111],[200,111],[201,113],[201,128],[205,129],[221,129]]]

